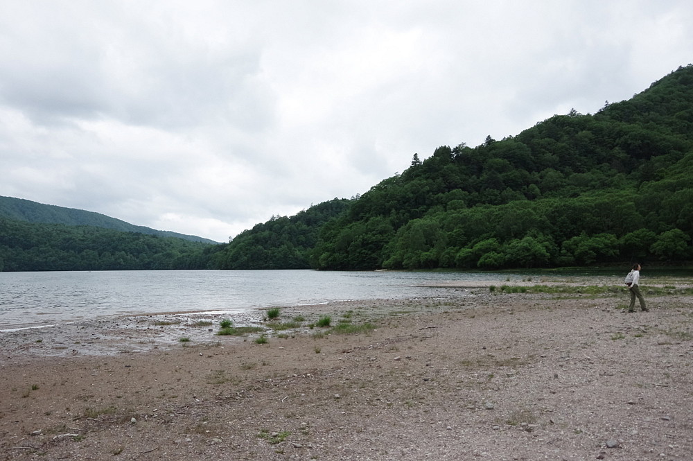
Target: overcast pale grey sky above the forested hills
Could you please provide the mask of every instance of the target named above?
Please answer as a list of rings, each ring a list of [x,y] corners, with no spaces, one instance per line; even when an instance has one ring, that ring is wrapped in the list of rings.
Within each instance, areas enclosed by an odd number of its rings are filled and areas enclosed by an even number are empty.
[[[690,0],[0,0],[0,195],[227,241],[689,62]]]

